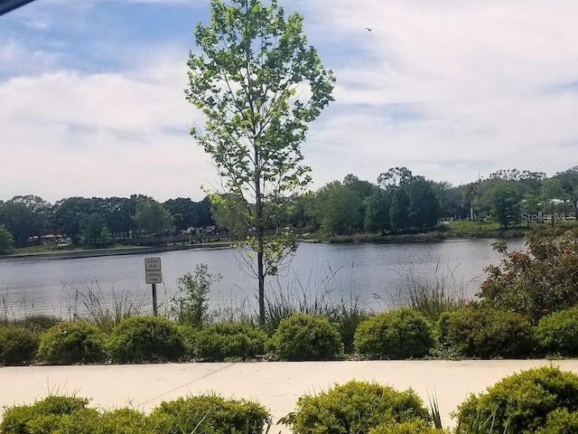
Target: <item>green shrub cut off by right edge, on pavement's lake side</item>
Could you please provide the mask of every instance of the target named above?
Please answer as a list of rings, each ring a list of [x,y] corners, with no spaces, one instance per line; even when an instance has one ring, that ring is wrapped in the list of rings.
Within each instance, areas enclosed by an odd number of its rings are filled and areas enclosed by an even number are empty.
[[[578,307],[543,316],[535,335],[540,349],[546,353],[578,355]]]

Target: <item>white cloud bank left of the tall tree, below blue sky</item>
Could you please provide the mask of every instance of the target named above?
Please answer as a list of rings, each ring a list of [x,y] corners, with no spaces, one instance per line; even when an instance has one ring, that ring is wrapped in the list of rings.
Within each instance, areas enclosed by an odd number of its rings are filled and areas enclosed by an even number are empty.
[[[0,83],[3,160],[10,162],[3,197],[202,198],[200,184],[214,171],[188,135],[195,110],[184,99],[181,62],[136,70],[140,78],[56,71]]]

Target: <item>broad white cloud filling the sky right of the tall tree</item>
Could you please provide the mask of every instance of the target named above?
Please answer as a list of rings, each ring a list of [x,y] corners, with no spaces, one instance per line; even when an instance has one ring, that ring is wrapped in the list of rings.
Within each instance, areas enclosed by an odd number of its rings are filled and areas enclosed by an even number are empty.
[[[313,157],[316,178],[325,181],[342,165],[341,174],[375,180],[407,165],[462,183],[477,177],[476,165],[482,175],[501,167],[554,175],[576,164],[578,94],[544,91],[578,78],[575,2],[337,0],[303,7],[322,14],[320,41],[337,35],[357,58],[328,59],[344,108],[313,127],[316,144],[331,143],[324,157]],[[396,103],[411,103],[420,118],[384,116],[383,107]],[[330,163],[333,156],[342,163]]]

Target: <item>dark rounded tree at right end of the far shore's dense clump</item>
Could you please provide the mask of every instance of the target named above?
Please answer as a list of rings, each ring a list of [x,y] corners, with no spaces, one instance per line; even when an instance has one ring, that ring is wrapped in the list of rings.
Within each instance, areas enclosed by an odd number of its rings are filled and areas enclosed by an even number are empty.
[[[440,205],[432,183],[415,176],[407,186],[407,196],[409,224],[419,230],[433,228],[440,218]]]

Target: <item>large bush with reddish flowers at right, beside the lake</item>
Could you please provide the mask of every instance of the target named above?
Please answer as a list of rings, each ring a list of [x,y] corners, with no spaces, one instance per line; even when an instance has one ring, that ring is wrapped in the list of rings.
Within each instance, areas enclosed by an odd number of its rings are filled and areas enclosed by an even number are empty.
[[[506,252],[505,246],[499,250]],[[526,251],[512,251],[488,278],[478,296],[482,304],[527,316],[541,316],[578,304],[578,230],[527,234]]]

